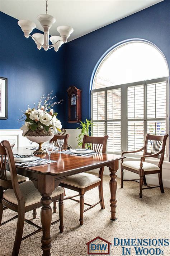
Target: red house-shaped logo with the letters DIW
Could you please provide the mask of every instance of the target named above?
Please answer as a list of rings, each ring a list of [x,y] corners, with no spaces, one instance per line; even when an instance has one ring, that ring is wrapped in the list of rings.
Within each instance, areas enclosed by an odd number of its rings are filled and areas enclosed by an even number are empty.
[[[88,255],[110,255],[112,244],[101,237],[96,237],[86,245],[88,246]]]

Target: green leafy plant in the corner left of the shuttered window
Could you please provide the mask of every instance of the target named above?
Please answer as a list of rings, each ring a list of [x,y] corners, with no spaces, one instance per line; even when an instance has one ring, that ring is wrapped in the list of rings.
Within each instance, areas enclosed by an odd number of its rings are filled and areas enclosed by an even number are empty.
[[[86,121],[84,121],[84,123],[81,121],[79,121],[79,122],[80,122],[80,127],[77,127],[76,130],[81,129],[81,133],[79,134],[79,136],[76,137],[76,138],[78,138],[77,139],[77,142],[78,142],[77,147],[82,147],[82,140],[83,140],[84,135],[89,136],[89,134],[92,134],[90,128],[93,127],[93,123],[91,120],[89,120],[87,118],[86,118]]]

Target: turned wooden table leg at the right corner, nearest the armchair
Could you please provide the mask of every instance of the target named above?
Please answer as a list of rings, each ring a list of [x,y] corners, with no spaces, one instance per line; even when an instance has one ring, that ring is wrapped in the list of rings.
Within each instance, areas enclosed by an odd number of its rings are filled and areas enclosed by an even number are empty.
[[[116,160],[114,162],[114,165],[109,166],[110,171],[110,212],[111,212],[111,218],[110,220],[117,220],[115,217],[116,214],[116,190],[117,190],[117,181],[116,181],[116,172],[119,168],[119,162]]]

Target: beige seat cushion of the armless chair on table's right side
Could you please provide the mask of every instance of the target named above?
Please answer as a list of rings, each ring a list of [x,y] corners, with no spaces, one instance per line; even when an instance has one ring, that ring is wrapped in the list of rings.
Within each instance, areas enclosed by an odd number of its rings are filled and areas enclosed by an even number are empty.
[[[65,180],[62,181],[64,184],[68,184],[74,187],[88,187],[92,184],[95,184],[100,181],[100,178],[90,174],[90,173],[79,173],[72,176],[67,177]]]

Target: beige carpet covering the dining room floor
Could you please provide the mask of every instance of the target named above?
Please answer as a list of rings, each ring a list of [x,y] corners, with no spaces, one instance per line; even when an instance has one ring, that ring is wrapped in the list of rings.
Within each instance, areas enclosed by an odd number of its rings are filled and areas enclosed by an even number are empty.
[[[169,194],[170,189],[165,188],[165,194],[160,189],[143,190],[143,198],[138,197],[139,186],[136,182],[124,182],[120,188],[120,179],[117,178],[117,221],[110,221],[109,207],[109,177],[104,176],[105,209],[100,204],[84,213],[84,225],[79,226],[79,204],[72,200],[64,201],[64,232],[59,233],[58,223],[51,227],[52,250],[54,256],[83,256],[87,255],[86,243],[100,236],[113,243],[116,238],[169,238]],[[66,190],[66,195],[74,194]],[[98,200],[98,188],[85,194],[86,202],[94,203]],[[40,209],[37,209],[37,219],[40,222]],[[14,216],[6,209],[3,221]],[[32,212],[26,213],[27,219],[32,219]],[[58,212],[53,214],[53,220],[58,219]],[[0,227],[0,255],[11,255],[16,231],[17,220]],[[29,224],[24,225],[24,235],[35,230]],[[25,239],[20,247],[19,255],[42,255],[41,233]],[[164,255],[169,255],[169,247],[164,247]],[[122,255],[120,246],[111,246],[111,255]],[[131,255],[135,255],[132,253]]]

